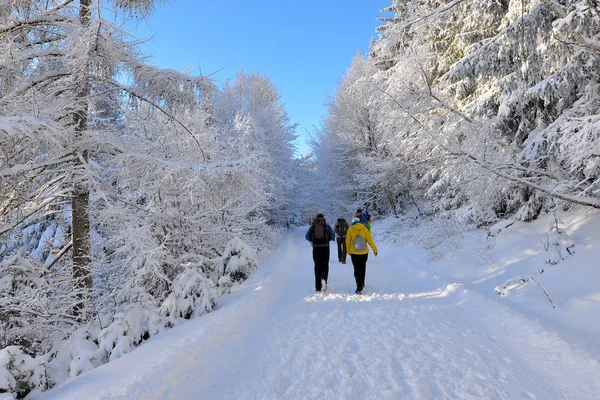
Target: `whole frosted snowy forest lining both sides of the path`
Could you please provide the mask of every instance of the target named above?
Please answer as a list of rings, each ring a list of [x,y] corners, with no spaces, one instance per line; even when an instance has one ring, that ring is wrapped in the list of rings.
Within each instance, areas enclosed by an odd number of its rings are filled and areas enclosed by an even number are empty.
[[[147,61],[117,21],[157,3],[0,4],[0,393],[211,312],[316,212],[600,209],[595,0],[392,1],[305,157],[267,76]]]

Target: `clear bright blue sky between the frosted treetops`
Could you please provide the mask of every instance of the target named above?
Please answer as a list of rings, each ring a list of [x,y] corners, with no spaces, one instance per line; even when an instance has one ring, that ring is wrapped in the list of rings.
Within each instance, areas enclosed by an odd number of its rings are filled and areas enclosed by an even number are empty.
[[[390,0],[170,0],[140,22],[134,34],[150,62],[208,75],[217,82],[239,70],[267,75],[299,123],[300,153],[320,125],[327,96],[357,51],[368,51],[380,10]]]

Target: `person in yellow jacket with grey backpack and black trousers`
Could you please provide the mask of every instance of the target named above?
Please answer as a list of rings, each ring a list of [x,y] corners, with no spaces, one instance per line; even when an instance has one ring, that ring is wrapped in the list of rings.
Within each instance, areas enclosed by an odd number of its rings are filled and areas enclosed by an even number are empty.
[[[373,242],[371,232],[361,222],[361,218],[356,217],[352,220],[352,226],[346,233],[346,249],[352,265],[354,266],[354,279],[356,279],[356,294],[362,294],[365,288],[365,275],[367,274],[367,259],[369,258],[369,247],[373,249],[373,254],[377,257],[377,246]]]

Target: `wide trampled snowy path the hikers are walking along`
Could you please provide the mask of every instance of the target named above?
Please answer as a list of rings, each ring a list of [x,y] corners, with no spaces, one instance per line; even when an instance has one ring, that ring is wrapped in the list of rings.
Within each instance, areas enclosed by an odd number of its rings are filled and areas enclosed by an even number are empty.
[[[385,244],[366,294],[337,261],[315,294],[303,234],[216,312],[36,398],[600,398],[597,360]]]

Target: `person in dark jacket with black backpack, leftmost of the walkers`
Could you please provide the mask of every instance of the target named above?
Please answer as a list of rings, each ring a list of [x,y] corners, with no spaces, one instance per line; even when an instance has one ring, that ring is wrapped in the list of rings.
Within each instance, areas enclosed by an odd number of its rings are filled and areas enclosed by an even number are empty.
[[[315,262],[315,290],[327,290],[329,276],[329,242],[335,240],[335,233],[325,220],[323,214],[317,214],[305,235],[313,248]]]

